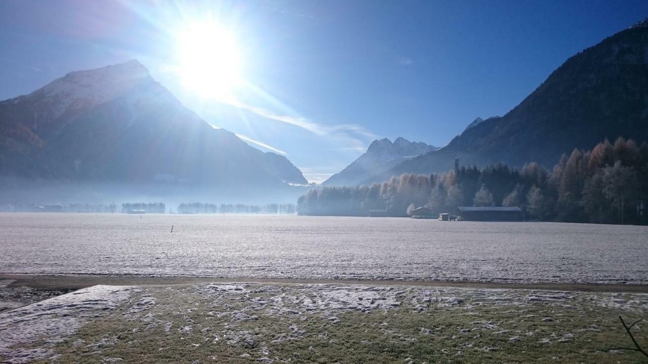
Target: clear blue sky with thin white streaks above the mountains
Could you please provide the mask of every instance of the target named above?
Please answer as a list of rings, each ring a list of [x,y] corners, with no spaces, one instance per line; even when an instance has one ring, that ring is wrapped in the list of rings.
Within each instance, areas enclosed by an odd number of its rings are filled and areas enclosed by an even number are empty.
[[[630,0],[5,0],[0,99],[135,58],[207,122],[316,181],[376,138],[443,146],[647,16],[647,1]],[[237,43],[245,87],[233,102],[187,87],[175,67],[176,32],[207,17]]]

